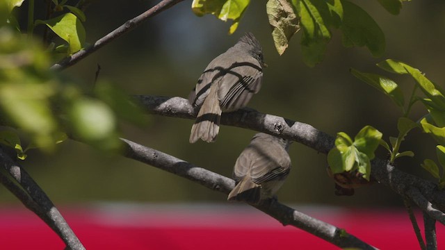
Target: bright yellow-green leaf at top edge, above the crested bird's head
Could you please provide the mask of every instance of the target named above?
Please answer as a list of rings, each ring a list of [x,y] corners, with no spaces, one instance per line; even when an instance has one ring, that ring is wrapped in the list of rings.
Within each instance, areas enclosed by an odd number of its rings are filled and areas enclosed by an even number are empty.
[[[198,17],[211,14],[224,22],[228,19],[234,20],[229,29],[229,33],[232,34],[236,31],[249,3],[250,0],[193,0],[192,10]]]

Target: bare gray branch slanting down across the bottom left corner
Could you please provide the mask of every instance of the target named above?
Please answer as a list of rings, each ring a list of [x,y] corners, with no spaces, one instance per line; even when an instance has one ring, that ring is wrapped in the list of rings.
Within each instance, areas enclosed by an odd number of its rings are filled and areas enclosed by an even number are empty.
[[[35,183],[25,169],[15,163],[3,149],[0,149],[0,164],[22,187],[22,189],[17,186],[14,187],[13,183],[2,175],[0,181],[6,185],[6,188],[13,192],[20,201],[24,202],[26,208],[42,218],[59,235],[67,247],[73,250],[85,249],[58,209],[47,197],[47,194]]]

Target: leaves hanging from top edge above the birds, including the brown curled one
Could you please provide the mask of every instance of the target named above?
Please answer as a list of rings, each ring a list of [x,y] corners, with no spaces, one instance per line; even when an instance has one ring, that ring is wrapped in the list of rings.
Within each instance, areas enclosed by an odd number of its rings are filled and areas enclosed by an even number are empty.
[[[378,1],[391,14],[397,15],[403,0]],[[196,15],[215,15],[233,20],[232,34],[248,8],[250,0],[193,0]],[[277,52],[282,55],[292,36],[302,31],[300,38],[303,61],[313,67],[323,60],[332,28],[342,33],[345,47],[367,47],[373,56],[385,51],[385,35],[365,10],[347,0],[268,0],[266,12]]]

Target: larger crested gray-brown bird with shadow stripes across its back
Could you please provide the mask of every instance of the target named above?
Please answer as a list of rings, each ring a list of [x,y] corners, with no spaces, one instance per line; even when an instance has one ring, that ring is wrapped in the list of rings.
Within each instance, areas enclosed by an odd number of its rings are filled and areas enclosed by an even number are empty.
[[[221,113],[248,104],[261,88],[265,66],[261,45],[252,33],[209,63],[188,97],[193,107],[200,107],[191,129],[191,143],[216,140]]]

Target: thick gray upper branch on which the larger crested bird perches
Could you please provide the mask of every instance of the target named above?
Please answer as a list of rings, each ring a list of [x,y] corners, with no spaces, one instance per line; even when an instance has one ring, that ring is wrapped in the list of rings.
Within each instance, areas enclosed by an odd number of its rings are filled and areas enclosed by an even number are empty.
[[[196,110],[181,97],[157,97],[157,96],[135,96],[143,105],[148,113],[154,115],[164,115],[169,117],[179,117],[186,119],[195,119]],[[256,110],[245,108],[233,113],[223,113],[221,124],[237,126],[240,128],[249,128],[254,131],[269,133],[281,138],[294,140],[307,147],[315,149],[321,153],[328,153],[334,146],[334,137],[319,131],[309,124],[294,122],[291,119],[259,113]],[[376,181],[387,185],[391,190],[400,194],[402,197],[409,197],[414,201],[413,193],[407,192],[415,187],[428,202],[434,204],[436,210],[445,211],[445,191],[438,190],[437,185],[430,181],[423,180],[417,176],[407,174],[396,169],[387,161],[375,158],[371,162],[372,176]],[[444,223],[444,214],[439,215],[437,211],[421,209],[431,217]],[[435,215],[432,215],[434,213]]]

